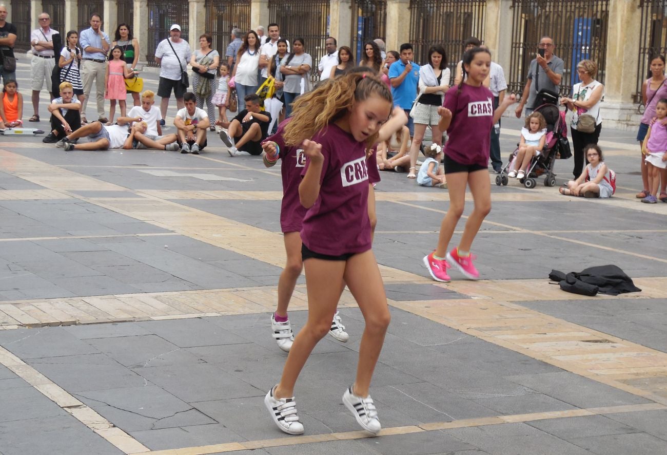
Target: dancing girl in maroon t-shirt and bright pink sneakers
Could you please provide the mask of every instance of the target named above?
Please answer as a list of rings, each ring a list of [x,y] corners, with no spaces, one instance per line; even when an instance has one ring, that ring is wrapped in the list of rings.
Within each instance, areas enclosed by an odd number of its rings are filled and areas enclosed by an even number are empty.
[[[491,185],[488,175],[490,133],[493,125],[516,97],[510,95],[494,112],[494,95],[482,83],[491,68],[488,49],[474,47],[466,51],[462,63],[464,77],[458,87],[447,91],[444,107],[438,108],[440,131],[447,130],[445,175],[450,193],[450,207],[440,225],[438,248],[424,257],[424,265],[434,280],[450,281],[447,269],[454,264],[462,274],[474,280],[480,274],[472,264],[470,246],[480,225],[491,211]],[[468,77],[466,78],[466,74]],[[466,202],[466,186],[474,200],[474,209],[457,248],[447,252],[450,240]]]

